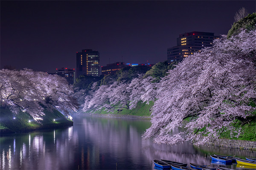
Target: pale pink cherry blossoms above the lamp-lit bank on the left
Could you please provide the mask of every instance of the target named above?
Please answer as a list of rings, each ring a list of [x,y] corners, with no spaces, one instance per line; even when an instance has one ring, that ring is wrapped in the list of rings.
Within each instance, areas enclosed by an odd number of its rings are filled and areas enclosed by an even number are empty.
[[[63,77],[30,69],[0,70],[1,106],[8,106],[16,114],[27,112],[36,121],[42,119],[44,108],[57,109],[72,118],[69,113],[78,108],[72,94]]]

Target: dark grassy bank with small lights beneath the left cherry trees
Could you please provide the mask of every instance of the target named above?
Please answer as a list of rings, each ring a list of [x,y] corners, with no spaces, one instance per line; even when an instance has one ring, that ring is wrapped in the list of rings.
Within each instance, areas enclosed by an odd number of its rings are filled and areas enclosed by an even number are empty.
[[[47,129],[73,125],[58,111],[44,111],[42,124],[35,122],[28,113],[20,111],[15,115],[7,108],[0,108],[0,133],[25,132],[36,129]],[[16,119],[13,119],[15,117]],[[53,121],[55,119],[55,122]],[[29,122],[31,120],[31,122]]]

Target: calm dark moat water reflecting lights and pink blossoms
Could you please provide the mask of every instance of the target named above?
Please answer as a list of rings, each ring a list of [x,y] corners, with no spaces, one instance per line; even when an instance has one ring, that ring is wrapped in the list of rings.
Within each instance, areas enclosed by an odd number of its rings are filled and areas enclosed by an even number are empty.
[[[212,167],[247,169],[237,164],[211,163],[211,154],[255,157],[249,150],[176,146],[143,141],[148,120],[76,116],[74,125],[0,137],[0,169],[23,170],[154,170],[154,159],[208,164]]]

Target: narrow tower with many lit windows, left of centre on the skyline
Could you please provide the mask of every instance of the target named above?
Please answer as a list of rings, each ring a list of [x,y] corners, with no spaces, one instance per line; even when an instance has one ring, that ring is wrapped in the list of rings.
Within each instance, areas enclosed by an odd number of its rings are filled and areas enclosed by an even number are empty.
[[[84,49],[76,52],[76,76],[80,75],[98,77],[99,72],[99,51]]]

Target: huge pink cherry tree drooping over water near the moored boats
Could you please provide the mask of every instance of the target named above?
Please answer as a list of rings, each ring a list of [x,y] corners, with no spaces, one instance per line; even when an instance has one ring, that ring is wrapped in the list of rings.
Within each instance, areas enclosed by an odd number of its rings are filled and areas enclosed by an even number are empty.
[[[185,58],[157,85],[152,125],[144,139],[161,144],[192,141],[206,144],[233,128],[237,120],[250,121],[256,102],[256,31],[223,36],[210,48]],[[177,127],[185,132],[170,135]]]

